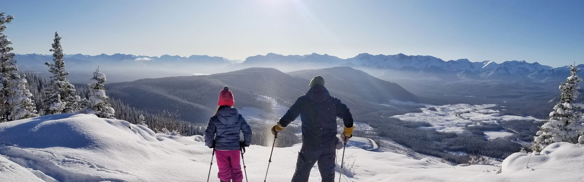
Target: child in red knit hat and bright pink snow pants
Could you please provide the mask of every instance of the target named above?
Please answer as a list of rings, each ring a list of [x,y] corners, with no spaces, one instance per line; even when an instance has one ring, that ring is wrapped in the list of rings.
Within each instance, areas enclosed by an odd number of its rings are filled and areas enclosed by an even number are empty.
[[[215,148],[221,182],[241,182],[244,175],[239,165],[239,149],[249,146],[252,142],[252,129],[233,107],[233,94],[227,86],[221,90],[217,102],[217,113],[209,120],[205,130],[205,145]],[[239,132],[244,133],[244,141],[240,143]]]

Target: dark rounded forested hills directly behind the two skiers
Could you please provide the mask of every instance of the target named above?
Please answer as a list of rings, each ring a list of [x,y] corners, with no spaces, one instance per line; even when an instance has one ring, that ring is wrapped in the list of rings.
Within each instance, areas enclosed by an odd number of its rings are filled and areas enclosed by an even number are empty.
[[[351,80],[340,82],[345,78],[347,69],[362,74],[353,75],[353,79],[373,80],[359,82],[359,85],[347,85]],[[381,81],[364,72],[347,67],[329,68],[329,89],[332,96],[339,97],[349,106],[353,113],[369,113],[380,110],[382,103],[390,99],[415,101],[416,96],[399,85]],[[315,72],[317,74],[317,72]],[[316,75],[314,75],[316,76]],[[337,83],[339,81],[339,83]],[[112,83],[106,85],[110,96],[124,100],[128,105],[152,113],[171,110],[179,113],[181,118],[190,122],[207,122],[217,107],[217,95],[223,86],[230,86],[234,92],[236,107],[255,107],[269,111],[269,104],[259,99],[268,96],[273,99],[291,103],[308,90],[309,79],[285,74],[273,68],[248,68],[234,72],[200,76],[178,76],[171,78],[141,79],[134,82]],[[356,87],[366,89],[352,89]],[[397,90],[394,91],[394,90]],[[376,93],[376,95],[371,95]],[[373,97],[378,96],[376,100]],[[284,106],[289,107],[289,106]],[[381,108],[380,108],[381,107]]]

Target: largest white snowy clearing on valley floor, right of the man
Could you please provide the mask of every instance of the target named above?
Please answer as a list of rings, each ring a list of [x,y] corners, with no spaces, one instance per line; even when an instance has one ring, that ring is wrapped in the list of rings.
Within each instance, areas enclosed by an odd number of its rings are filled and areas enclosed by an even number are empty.
[[[422,113],[407,113],[392,117],[399,118],[403,121],[429,122],[432,124],[432,127],[426,128],[443,132],[465,132],[463,129],[465,126],[478,124],[479,122],[495,123],[497,121],[509,120],[543,121],[534,117],[500,115],[499,111],[488,109],[494,106],[496,105],[451,104],[444,106],[425,106],[422,107]],[[436,108],[436,111],[429,110],[431,107]]]

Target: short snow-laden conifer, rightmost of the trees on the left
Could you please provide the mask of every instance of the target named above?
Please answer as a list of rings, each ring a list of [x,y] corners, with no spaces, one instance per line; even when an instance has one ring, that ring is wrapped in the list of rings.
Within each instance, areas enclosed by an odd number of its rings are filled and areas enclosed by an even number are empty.
[[[84,108],[77,113],[95,114],[100,118],[114,118],[115,110],[111,104],[107,103],[109,97],[103,88],[106,82],[106,75],[99,72],[99,68],[93,73],[93,78],[89,80],[89,99],[85,100]]]

